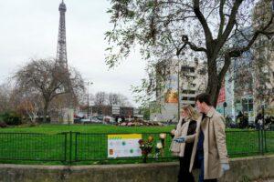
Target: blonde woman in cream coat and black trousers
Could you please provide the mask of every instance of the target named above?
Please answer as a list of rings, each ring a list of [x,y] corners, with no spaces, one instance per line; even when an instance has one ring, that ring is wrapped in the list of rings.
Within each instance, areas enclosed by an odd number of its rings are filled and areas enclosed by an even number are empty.
[[[194,176],[189,172],[189,164],[195,141],[196,119],[198,114],[190,105],[183,106],[182,115],[176,129],[171,131],[174,140],[170,147],[174,156],[179,157],[180,170],[178,182],[194,182]],[[184,136],[185,142],[176,139]]]

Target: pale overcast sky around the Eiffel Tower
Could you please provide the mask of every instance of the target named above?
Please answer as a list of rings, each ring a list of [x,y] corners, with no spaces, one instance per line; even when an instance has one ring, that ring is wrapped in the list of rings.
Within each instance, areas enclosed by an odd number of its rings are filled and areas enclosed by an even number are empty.
[[[58,43],[58,5],[61,0],[0,0],[0,84],[30,58],[55,57]],[[90,93],[98,91],[128,96],[131,86],[145,77],[139,53],[109,70],[106,66],[104,33],[111,30],[106,14],[110,0],[65,0],[67,5],[68,65],[92,81]]]

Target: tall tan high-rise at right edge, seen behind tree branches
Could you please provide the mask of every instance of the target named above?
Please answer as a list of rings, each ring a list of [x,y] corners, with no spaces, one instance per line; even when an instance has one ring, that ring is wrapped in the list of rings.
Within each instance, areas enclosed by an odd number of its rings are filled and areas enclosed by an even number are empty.
[[[271,0],[261,0],[254,7],[253,28],[260,30],[269,23],[274,12]],[[274,31],[274,23],[266,30]],[[254,97],[256,113],[264,106],[270,115],[274,115],[274,37],[259,35],[253,47],[255,56]]]

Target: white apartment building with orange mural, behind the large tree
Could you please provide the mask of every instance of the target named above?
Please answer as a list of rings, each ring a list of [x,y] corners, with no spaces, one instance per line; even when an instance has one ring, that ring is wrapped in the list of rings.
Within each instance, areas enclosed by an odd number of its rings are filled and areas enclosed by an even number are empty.
[[[195,106],[195,96],[205,89],[205,76],[199,72],[202,65],[198,61],[170,60],[167,67],[169,74],[157,90],[154,103],[160,108],[151,111],[153,121],[178,121],[181,107]]]

